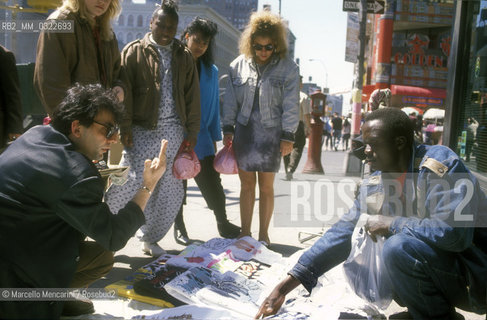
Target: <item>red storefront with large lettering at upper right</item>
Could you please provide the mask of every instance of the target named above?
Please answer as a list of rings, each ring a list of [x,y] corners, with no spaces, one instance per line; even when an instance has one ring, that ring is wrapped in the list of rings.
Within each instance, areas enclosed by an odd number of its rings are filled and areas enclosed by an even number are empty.
[[[389,0],[369,15],[367,83],[363,101],[389,88],[393,107],[445,108],[453,0]]]

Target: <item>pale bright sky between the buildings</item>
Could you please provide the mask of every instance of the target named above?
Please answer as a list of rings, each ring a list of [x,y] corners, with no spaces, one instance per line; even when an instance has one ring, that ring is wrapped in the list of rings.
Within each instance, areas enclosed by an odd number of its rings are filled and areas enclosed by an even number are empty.
[[[264,4],[279,12],[278,0],[259,0],[258,9]],[[281,15],[296,36],[295,58],[300,58],[305,82],[312,76],[323,86],[326,69],[330,93],[350,89],[353,64],[345,61],[347,13],[342,11],[342,0],[281,0]]]

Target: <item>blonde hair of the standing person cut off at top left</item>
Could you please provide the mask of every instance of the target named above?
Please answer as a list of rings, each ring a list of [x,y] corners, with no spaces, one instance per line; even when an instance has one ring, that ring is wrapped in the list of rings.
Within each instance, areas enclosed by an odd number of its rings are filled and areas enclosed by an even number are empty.
[[[95,25],[95,20],[92,19],[86,12],[84,0],[63,0],[60,10],[69,10],[71,12],[79,12],[81,17],[88,20],[90,25]],[[110,0],[107,11],[101,15],[98,20],[100,23],[100,36],[102,40],[108,41],[113,39],[113,31],[110,22],[115,19],[122,10],[120,0]]]

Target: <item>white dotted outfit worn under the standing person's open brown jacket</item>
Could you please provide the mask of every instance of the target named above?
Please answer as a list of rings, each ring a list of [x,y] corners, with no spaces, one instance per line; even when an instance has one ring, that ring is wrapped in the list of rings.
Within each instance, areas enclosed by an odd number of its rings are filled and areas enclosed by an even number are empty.
[[[166,152],[167,170],[152,191],[144,210],[146,224],[138,233],[141,241],[152,243],[161,240],[171,228],[184,196],[182,180],[172,174],[174,157],[183,141],[184,129],[172,96],[171,44],[156,47],[162,76],[157,127],[148,130],[133,126],[133,147],[124,149],[121,160],[122,165],[130,166],[128,181],[123,186],[112,185],[105,195],[105,201],[112,212],[118,212],[142,186],[145,159],[152,159],[159,154],[162,139],[169,142]]]

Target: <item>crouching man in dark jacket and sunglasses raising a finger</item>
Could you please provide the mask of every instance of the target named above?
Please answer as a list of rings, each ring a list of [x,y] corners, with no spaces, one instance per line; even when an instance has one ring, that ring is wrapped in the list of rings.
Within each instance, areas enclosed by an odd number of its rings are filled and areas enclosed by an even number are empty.
[[[143,210],[166,171],[167,141],[145,161],[135,196],[112,214],[92,160],[118,139],[121,114],[110,91],[76,85],[51,125],[30,129],[0,156],[0,288],[87,287],[112,269],[112,251],[145,223]],[[92,312],[89,300],[0,301],[2,319]]]

